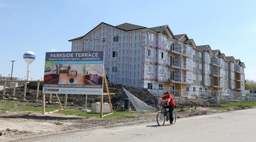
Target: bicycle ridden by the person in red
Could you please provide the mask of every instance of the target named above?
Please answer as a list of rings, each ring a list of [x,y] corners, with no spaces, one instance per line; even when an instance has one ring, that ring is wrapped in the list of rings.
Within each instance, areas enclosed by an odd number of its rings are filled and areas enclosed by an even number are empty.
[[[161,105],[161,108],[160,108],[160,112],[157,114],[157,124],[159,126],[163,126],[164,123],[165,123],[165,120],[168,121],[169,120],[169,112],[167,112],[165,109],[164,109],[164,106],[166,106],[166,104],[164,105]],[[168,109],[168,108],[166,108]],[[176,112],[173,111],[173,123],[172,124],[175,124],[176,122]]]

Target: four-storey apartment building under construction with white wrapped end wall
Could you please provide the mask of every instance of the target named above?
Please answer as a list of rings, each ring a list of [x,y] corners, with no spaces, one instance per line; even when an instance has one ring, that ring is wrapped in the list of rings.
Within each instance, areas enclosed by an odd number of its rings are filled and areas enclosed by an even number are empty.
[[[209,45],[197,46],[168,25],[144,27],[101,22],[84,36],[69,40],[72,51],[104,51],[109,80],[125,86],[195,92],[243,92],[245,65]],[[184,95],[182,93],[181,95]]]

